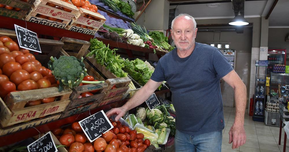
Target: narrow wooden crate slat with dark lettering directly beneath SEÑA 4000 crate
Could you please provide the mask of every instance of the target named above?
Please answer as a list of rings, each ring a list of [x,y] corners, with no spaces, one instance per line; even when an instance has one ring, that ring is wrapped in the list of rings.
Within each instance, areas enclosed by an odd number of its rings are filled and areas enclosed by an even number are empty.
[[[58,120],[60,117],[60,113],[54,114],[51,116],[46,116],[45,118],[38,118],[29,122],[24,122],[20,124],[15,124],[11,127],[1,128],[0,127],[0,136],[7,135],[10,133],[14,133],[16,131],[25,130],[31,127],[36,127],[38,125],[46,124],[55,120]]]

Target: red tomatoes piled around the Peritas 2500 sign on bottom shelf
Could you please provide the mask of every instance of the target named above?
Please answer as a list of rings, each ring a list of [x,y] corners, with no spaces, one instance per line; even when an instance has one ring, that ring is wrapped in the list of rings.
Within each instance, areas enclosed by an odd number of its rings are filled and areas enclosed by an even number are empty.
[[[110,121],[114,128],[92,143],[86,138],[78,122],[73,122],[71,128],[58,128],[52,133],[61,144],[67,146],[69,152],[143,152],[150,146],[151,142],[148,139],[143,140],[142,133],[130,130],[119,121]]]

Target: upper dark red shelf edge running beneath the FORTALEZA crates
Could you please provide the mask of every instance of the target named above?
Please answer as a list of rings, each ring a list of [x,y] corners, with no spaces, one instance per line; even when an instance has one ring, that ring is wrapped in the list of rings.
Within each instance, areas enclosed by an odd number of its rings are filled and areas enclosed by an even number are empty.
[[[58,39],[58,40],[60,40],[62,37],[70,37],[73,39],[80,39],[80,40],[89,41],[90,39],[92,39],[94,37],[93,35],[89,35],[89,34],[73,32],[70,30],[55,28],[55,27],[51,27],[51,26],[47,26],[47,25],[42,25],[42,24],[33,23],[33,22],[29,22],[29,21],[24,21],[24,20],[19,20],[19,19],[14,19],[14,18],[10,18],[10,17],[0,16],[0,20],[5,21],[5,22],[1,22],[0,28],[15,30],[14,24],[16,23],[17,25],[19,25],[21,27],[24,27],[24,28],[27,27],[28,30],[36,32],[37,34],[53,36],[55,39]],[[145,48],[145,47],[139,47],[139,46],[131,45],[131,44],[127,44],[127,43],[120,43],[120,42],[116,42],[116,41],[112,41],[112,40],[108,40],[108,39],[103,39],[103,38],[98,38],[98,37],[97,37],[97,39],[99,41],[103,41],[103,43],[105,45],[109,44],[112,47],[126,49],[129,51],[128,53],[131,53],[131,51],[154,53],[153,50]],[[165,55],[166,53],[162,52],[162,51],[157,51],[156,54],[160,58],[160,55]]]

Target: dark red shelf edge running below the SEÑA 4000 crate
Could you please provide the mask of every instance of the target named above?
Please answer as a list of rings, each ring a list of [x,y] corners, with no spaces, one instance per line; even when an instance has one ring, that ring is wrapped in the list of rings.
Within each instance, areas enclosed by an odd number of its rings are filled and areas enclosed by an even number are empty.
[[[29,129],[21,130],[21,128],[18,128],[18,130],[20,130],[18,132],[11,133],[11,134],[4,135],[4,136],[0,136],[0,141],[1,141],[0,147],[6,146],[9,144],[13,144],[15,142],[19,142],[21,140],[36,136],[39,134],[38,131],[40,131],[40,133],[45,133],[47,131],[56,129],[56,128],[64,125],[64,124],[70,124],[72,122],[82,120],[82,119],[90,116],[90,114],[97,113],[101,110],[107,111],[107,110],[115,108],[115,107],[120,107],[120,106],[124,105],[126,101],[127,101],[127,99],[121,100],[118,102],[113,102],[113,103],[110,103],[108,105],[104,105],[102,107],[97,107],[97,108],[92,109],[90,111],[86,111],[84,113],[78,113],[76,115],[73,115],[73,116],[70,116],[70,117],[67,117],[64,119],[59,119],[59,120],[56,120],[53,122],[49,122],[47,124],[36,126],[35,128],[32,127],[32,126],[34,126],[33,124],[31,125],[31,128],[29,128]],[[0,129],[0,131],[1,131],[1,129]]]

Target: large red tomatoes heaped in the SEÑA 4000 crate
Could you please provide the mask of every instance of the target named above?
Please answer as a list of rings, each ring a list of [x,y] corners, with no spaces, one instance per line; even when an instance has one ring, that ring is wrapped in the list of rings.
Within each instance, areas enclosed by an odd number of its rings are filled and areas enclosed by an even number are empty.
[[[10,92],[58,87],[51,70],[43,67],[29,50],[19,48],[8,36],[0,37],[0,97]],[[55,101],[55,97],[29,101],[26,106]]]

